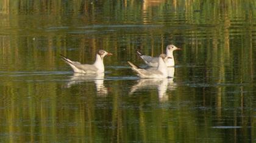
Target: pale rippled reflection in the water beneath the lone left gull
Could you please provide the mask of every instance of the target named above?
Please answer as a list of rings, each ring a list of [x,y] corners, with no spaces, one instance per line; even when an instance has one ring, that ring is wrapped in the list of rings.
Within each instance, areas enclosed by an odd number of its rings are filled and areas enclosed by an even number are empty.
[[[85,81],[94,81],[98,95],[107,95],[108,90],[104,86],[104,73],[74,73],[69,79],[67,87]]]

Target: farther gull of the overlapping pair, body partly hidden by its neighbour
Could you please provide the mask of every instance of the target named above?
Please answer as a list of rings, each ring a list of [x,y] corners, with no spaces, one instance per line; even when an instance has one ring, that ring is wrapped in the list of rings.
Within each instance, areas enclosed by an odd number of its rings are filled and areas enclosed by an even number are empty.
[[[165,59],[165,64],[166,64],[167,67],[173,67],[175,65],[174,56],[173,56],[173,52],[175,50],[182,50],[182,49],[181,48],[177,48],[175,45],[167,45],[167,47],[166,47],[166,55],[169,57],[169,58]],[[147,65],[149,65],[151,67],[157,67],[157,65],[158,65],[158,58],[157,57],[143,55],[138,50],[137,50],[137,53],[140,56],[140,58],[143,59],[143,61]]]

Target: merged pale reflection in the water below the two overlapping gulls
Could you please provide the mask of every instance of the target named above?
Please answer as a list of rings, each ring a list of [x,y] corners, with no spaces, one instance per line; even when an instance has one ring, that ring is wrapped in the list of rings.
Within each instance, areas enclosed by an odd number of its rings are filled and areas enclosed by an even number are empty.
[[[168,101],[166,91],[175,90],[176,84],[174,83],[174,67],[168,67],[169,78],[163,79],[139,79],[138,83],[133,85],[130,94],[143,88],[157,88],[159,101]]]

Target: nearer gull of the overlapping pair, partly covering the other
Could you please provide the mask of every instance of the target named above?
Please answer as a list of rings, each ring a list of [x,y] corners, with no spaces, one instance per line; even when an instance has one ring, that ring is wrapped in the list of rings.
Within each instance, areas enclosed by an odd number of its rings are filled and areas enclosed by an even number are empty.
[[[138,68],[136,65],[132,64],[132,62],[128,61],[128,63],[132,67],[132,70],[138,73],[140,78],[167,78],[168,70],[164,61],[166,59],[168,59],[168,56],[161,54],[158,57],[158,66],[156,69]]]

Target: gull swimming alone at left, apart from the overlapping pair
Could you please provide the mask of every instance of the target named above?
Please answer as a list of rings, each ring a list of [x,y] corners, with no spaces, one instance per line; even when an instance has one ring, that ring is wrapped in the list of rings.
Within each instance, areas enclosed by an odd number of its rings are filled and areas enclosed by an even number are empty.
[[[71,61],[63,55],[60,56],[62,56],[63,61],[65,61],[70,65],[71,68],[73,68],[75,73],[103,73],[103,58],[106,55],[112,55],[112,53],[108,53],[105,50],[99,50],[96,54],[96,60],[94,64],[81,64],[80,62]]]

